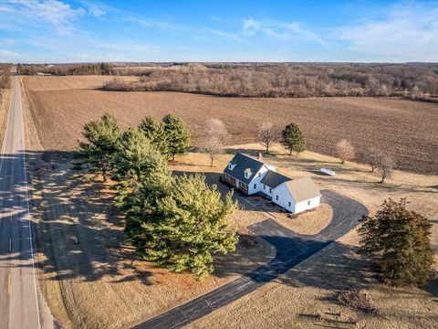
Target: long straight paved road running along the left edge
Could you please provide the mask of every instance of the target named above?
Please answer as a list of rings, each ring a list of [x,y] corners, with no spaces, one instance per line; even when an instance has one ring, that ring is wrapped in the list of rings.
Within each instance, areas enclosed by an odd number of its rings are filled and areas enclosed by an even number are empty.
[[[0,327],[40,328],[17,77],[12,88],[0,160]]]

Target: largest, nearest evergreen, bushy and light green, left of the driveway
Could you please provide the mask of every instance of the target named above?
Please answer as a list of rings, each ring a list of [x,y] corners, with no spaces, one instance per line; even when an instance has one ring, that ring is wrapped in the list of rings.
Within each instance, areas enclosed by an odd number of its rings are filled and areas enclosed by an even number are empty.
[[[203,175],[183,175],[170,185],[139,189],[138,194],[142,207],[130,211],[128,236],[144,260],[171,271],[190,270],[202,280],[214,271],[214,253],[235,250],[232,194],[222,201]]]

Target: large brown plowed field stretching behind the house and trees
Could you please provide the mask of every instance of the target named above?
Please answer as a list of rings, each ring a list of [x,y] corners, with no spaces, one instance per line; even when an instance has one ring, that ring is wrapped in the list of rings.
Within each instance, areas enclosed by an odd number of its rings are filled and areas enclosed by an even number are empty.
[[[25,77],[32,116],[46,150],[73,150],[83,124],[104,111],[121,124],[136,125],[146,115],[180,116],[199,144],[206,119],[219,118],[232,133],[230,144],[255,141],[257,125],[270,121],[282,128],[297,122],[308,149],[335,154],[346,138],[363,151],[370,145],[392,154],[401,170],[438,174],[438,106],[385,98],[241,99],[178,92],[99,90],[110,77]],[[136,79],[133,77],[123,79]]]

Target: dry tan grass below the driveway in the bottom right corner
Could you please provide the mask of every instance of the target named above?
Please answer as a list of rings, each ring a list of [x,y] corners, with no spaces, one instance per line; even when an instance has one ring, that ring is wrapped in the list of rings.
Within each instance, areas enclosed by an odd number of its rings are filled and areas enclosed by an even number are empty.
[[[421,289],[392,289],[372,278],[354,246],[334,242],[308,260],[188,328],[434,328],[438,302]],[[360,287],[379,314],[343,306],[333,292]],[[332,316],[341,313],[339,317]],[[353,321],[351,321],[353,320]],[[350,324],[356,322],[357,324]]]

